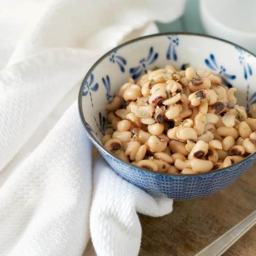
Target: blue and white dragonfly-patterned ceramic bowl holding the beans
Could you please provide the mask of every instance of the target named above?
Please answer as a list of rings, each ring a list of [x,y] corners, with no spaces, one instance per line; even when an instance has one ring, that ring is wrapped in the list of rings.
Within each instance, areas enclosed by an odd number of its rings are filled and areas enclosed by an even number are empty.
[[[104,148],[101,138],[106,128],[105,106],[128,77],[136,79],[155,66],[182,68],[185,63],[220,74],[228,87],[237,88],[238,103],[247,109],[256,103],[256,56],[224,40],[184,33],[144,36],[107,52],[86,74],[78,96],[85,132],[111,168],[145,191],[175,200],[204,197],[227,187],[256,160],[256,152],[209,173],[164,174],[123,162]]]

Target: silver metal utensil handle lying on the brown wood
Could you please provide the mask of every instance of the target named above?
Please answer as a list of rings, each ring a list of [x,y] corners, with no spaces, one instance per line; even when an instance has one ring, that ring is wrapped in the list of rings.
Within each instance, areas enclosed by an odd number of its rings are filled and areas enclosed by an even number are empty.
[[[256,211],[248,215],[233,228],[221,235],[215,241],[199,251],[195,256],[219,256],[230,248],[239,238],[241,238],[250,228],[256,224]]]

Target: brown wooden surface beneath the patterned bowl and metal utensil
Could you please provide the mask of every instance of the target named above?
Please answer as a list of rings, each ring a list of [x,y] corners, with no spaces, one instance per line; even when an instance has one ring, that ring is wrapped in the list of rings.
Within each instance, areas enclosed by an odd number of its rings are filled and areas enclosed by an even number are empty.
[[[194,255],[256,209],[256,164],[224,190],[196,200],[174,202],[159,218],[139,215],[140,256]],[[256,226],[225,254],[256,255]],[[211,255],[209,255],[211,256]]]

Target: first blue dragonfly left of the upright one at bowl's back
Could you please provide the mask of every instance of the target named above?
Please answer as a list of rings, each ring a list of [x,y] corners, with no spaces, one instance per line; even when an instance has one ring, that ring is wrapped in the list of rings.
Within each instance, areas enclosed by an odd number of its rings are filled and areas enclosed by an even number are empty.
[[[147,58],[140,59],[140,65],[134,68],[130,68],[130,74],[132,74],[133,79],[137,79],[142,73],[147,73],[147,65],[153,64],[158,58],[158,53],[154,53],[153,46],[149,49],[149,54]]]

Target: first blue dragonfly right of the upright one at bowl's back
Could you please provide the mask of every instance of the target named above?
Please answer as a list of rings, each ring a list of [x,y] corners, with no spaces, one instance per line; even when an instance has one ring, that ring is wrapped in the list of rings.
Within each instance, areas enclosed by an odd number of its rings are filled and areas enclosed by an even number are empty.
[[[233,87],[232,84],[227,81],[227,79],[234,80],[235,75],[227,74],[224,66],[218,66],[215,57],[212,53],[210,54],[210,58],[205,59],[204,62],[211,70],[215,71],[216,73],[222,76],[222,80],[228,88]]]

